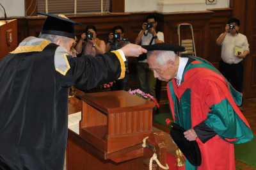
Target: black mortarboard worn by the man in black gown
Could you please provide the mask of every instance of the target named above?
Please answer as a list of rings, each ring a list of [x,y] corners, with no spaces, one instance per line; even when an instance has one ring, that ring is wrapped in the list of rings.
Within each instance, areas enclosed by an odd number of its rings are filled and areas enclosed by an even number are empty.
[[[47,16],[42,26],[42,31],[41,31],[42,34],[60,35],[60,36],[66,36],[68,38],[75,39],[75,36],[76,36],[75,24],[84,26],[79,22],[65,18],[64,15],[60,15],[62,16],[60,17],[58,15],[52,15],[49,13],[42,13],[42,12],[38,12],[38,14]]]

